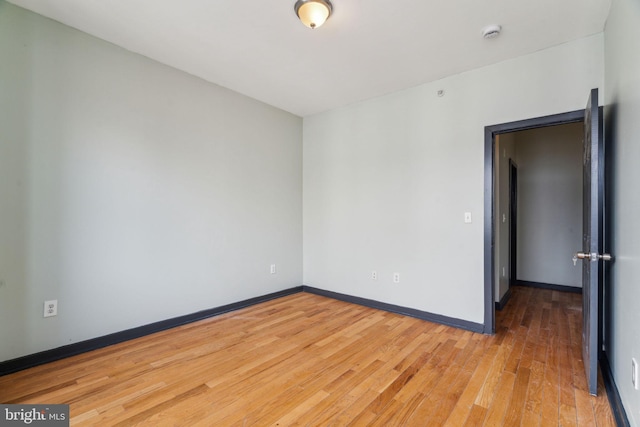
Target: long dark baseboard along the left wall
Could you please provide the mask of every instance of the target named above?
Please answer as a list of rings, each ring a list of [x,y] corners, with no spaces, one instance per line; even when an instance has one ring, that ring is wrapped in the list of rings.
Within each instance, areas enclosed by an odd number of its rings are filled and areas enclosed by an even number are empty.
[[[21,371],[23,369],[32,368],[34,366],[43,365],[45,363],[64,359],[66,357],[75,356],[88,351],[97,350],[113,344],[140,338],[155,332],[164,331],[166,329],[175,328],[176,326],[185,325],[187,323],[228,313],[230,311],[239,310],[261,302],[270,301],[272,299],[302,292],[302,286],[291,289],[274,292],[271,294],[249,298],[244,301],[223,305],[216,308],[198,311],[196,313],[186,314],[184,316],[174,317],[172,319],[161,320],[159,322],[150,323],[148,325],[139,326],[137,328],[127,329],[125,331],[115,332],[113,334],[92,338],[86,341],[65,345],[62,347],[45,350],[39,353],[29,354],[27,356],[0,362],[0,376]]]

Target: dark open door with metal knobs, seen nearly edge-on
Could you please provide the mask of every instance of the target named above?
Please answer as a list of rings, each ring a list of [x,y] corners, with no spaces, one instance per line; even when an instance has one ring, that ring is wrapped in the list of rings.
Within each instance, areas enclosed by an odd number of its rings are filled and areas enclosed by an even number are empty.
[[[600,304],[602,295],[602,262],[611,260],[601,255],[603,247],[604,145],[602,119],[598,109],[598,89],[589,96],[584,119],[582,252],[574,262],[582,260],[582,360],[587,374],[589,393],[598,392],[598,358],[600,343]]]

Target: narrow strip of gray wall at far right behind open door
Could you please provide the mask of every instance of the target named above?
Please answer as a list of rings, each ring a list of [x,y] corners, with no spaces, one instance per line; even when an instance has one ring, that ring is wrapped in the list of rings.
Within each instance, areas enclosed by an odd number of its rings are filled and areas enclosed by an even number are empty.
[[[640,391],[631,358],[640,363],[640,3],[613,0],[605,30],[608,155],[612,160],[612,247],[607,286],[607,356],[631,425],[640,425]]]

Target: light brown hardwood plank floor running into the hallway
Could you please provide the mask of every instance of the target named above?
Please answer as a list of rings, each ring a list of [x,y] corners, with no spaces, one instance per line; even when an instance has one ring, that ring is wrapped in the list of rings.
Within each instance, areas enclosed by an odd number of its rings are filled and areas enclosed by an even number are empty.
[[[0,377],[72,425],[613,426],[581,296],[513,288],[486,336],[299,293]]]

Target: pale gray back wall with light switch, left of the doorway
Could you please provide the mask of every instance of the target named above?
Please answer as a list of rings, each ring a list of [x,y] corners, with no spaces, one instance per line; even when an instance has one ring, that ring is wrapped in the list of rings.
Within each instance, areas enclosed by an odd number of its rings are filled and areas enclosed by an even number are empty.
[[[603,46],[599,34],[305,117],[304,283],[482,323],[484,128],[584,108]]]

